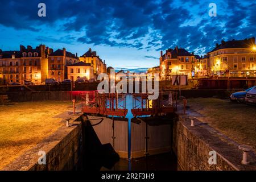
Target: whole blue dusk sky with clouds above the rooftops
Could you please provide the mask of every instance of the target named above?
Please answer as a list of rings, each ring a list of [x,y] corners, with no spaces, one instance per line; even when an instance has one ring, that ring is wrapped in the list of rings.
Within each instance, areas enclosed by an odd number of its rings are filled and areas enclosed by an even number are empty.
[[[38,4],[46,4],[46,17]],[[210,17],[209,3],[217,16]],[[203,55],[222,39],[255,36],[256,2],[160,0],[1,0],[0,49],[39,44],[82,55],[97,51],[108,66],[143,71],[175,46]]]

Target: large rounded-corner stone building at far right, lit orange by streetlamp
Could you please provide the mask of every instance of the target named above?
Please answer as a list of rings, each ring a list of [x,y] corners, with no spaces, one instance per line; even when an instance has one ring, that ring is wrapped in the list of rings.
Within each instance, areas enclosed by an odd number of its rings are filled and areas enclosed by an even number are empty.
[[[255,77],[255,38],[245,40],[222,40],[210,51],[210,75],[224,77]]]

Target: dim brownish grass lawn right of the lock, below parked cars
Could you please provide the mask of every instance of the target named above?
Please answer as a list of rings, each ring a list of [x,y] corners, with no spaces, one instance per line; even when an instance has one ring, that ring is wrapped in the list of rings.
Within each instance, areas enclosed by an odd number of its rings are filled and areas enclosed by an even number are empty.
[[[256,151],[256,106],[217,98],[192,98],[188,99],[188,105],[206,117],[204,122]]]

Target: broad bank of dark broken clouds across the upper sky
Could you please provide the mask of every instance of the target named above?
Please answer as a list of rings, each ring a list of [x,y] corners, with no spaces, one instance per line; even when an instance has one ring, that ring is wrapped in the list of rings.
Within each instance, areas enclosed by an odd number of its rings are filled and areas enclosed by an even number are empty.
[[[47,17],[38,17],[38,4],[46,3]],[[17,30],[72,34],[77,38],[47,38],[52,42],[80,42],[94,45],[166,49],[174,46],[195,53],[210,51],[222,39],[255,36],[256,3],[216,1],[217,17],[208,16],[210,2],[154,0],[2,0],[0,24]],[[56,22],[61,23],[56,27]],[[196,22],[196,23],[195,23]]]

